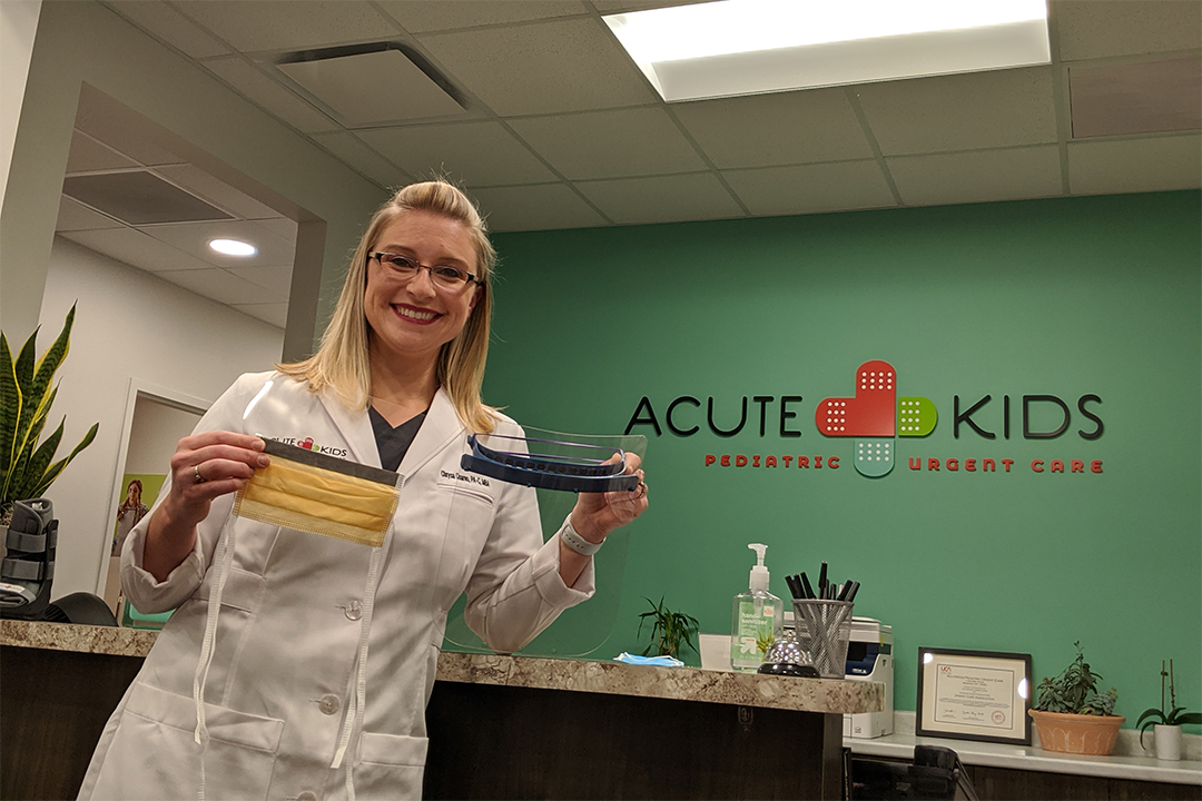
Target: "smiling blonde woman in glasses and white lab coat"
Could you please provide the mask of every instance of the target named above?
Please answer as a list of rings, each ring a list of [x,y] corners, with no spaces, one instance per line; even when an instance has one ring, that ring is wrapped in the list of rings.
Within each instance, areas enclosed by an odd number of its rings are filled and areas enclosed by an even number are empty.
[[[403,189],[368,225],[317,353],[243,376],[180,441],[121,557],[137,609],[177,611],[81,797],[418,797],[424,709],[458,596],[471,628],[507,652],[591,594],[588,554],[647,507],[637,458],[636,490],[581,495],[546,543],[531,489],[465,494],[457,480],[469,432],[522,434],[480,400],[494,261],[458,190]],[[383,545],[228,518],[232,494],[269,462],[252,435],[403,474]],[[215,581],[227,518],[232,561]]]

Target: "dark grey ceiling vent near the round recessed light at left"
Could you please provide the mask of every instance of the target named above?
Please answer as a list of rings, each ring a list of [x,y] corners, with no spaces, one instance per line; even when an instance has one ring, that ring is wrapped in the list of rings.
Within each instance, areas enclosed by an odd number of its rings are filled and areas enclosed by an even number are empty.
[[[63,193],[130,226],[233,220],[145,169],[70,175],[63,181]]]

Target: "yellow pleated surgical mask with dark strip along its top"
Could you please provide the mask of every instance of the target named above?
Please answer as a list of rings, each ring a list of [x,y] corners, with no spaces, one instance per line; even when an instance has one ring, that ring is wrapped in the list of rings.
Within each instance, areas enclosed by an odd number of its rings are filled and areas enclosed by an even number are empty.
[[[238,491],[233,514],[379,548],[404,478],[387,470],[264,440],[272,464]]]

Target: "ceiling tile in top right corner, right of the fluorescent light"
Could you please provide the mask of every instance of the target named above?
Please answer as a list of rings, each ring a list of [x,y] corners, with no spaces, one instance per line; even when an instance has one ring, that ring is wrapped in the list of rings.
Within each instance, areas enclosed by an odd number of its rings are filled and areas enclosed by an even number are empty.
[[[1060,59],[1101,59],[1202,47],[1197,0],[1054,0]]]

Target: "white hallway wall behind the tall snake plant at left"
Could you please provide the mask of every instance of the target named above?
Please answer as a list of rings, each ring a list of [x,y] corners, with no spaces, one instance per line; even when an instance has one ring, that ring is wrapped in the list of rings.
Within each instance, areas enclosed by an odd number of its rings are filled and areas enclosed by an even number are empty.
[[[56,237],[38,354],[58,336],[72,304],[71,351],[56,376],[59,394],[47,429],[66,414],[59,458],[93,423],[100,431],[47,494],[59,519],[54,598],[96,591],[112,538],[130,379],[212,402],[238,375],[269,370],[284,343],[282,329]]]

